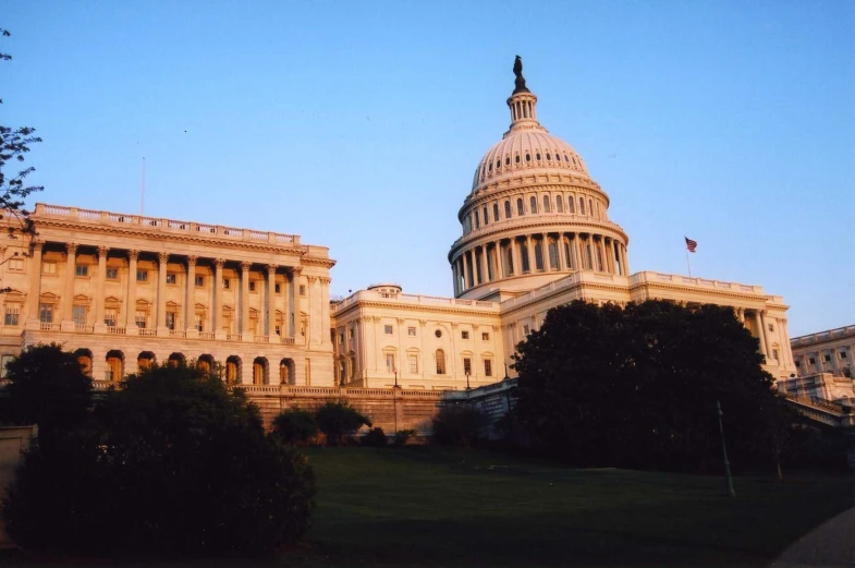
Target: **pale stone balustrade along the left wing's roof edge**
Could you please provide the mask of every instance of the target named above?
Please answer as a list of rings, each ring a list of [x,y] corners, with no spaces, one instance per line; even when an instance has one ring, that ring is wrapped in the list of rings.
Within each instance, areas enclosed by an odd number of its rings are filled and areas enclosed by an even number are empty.
[[[65,207],[62,205],[48,205],[37,203],[33,215],[34,220],[41,218],[72,218],[87,223],[102,226],[136,226],[143,229],[151,229],[157,232],[204,234],[206,237],[217,237],[229,241],[251,241],[266,242],[274,245],[293,246],[300,245],[300,235],[285,234],[272,231],[254,231],[251,229],[237,229],[222,225],[206,225],[194,221],[181,221],[175,219],[164,219],[158,217],[145,217],[143,215],[127,215],[121,213],[101,212],[95,209],[83,209],[80,207]]]

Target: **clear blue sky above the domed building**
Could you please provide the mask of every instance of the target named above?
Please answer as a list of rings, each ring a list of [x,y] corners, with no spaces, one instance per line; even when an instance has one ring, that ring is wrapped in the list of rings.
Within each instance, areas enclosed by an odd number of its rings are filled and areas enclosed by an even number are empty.
[[[1,123],[37,201],[301,234],[451,295],[447,254],[510,123],[538,116],[630,234],[630,268],[762,285],[791,335],[855,324],[855,2],[0,0]]]

